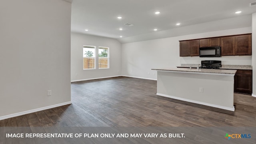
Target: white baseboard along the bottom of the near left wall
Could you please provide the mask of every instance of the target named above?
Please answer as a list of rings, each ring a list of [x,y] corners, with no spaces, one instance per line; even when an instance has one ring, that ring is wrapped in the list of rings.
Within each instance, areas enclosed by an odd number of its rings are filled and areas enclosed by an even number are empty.
[[[37,109],[34,109],[34,110],[28,110],[28,111],[25,111],[25,112],[19,112],[19,113],[16,113],[16,114],[10,114],[10,115],[7,115],[7,116],[1,116],[0,117],[0,120],[4,120],[4,119],[7,119],[7,118],[13,118],[13,117],[16,117],[16,116],[22,116],[24,114],[30,114],[30,113],[33,113],[33,112],[39,112],[39,111],[42,111],[42,110],[47,110],[47,109],[50,109],[50,108],[56,108],[56,107],[59,107],[59,106],[65,106],[67,104],[72,104],[72,102],[64,102],[64,103],[61,103],[61,104],[55,104],[55,105],[52,105],[52,106],[46,106],[46,107],[43,107],[43,108],[37,108]]]

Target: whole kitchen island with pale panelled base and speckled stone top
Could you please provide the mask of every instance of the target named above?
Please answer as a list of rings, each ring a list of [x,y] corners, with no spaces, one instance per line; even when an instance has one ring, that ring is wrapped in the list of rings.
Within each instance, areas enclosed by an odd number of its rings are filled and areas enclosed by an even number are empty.
[[[236,70],[155,68],[157,95],[234,111]]]

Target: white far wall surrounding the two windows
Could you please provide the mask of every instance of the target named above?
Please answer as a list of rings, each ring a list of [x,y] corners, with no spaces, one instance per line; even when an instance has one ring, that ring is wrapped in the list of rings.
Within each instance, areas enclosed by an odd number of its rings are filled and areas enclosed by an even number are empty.
[[[83,46],[109,47],[110,68],[83,70]],[[77,75],[76,75],[77,74]],[[121,75],[121,44],[115,39],[71,33],[71,80],[87,80]]]

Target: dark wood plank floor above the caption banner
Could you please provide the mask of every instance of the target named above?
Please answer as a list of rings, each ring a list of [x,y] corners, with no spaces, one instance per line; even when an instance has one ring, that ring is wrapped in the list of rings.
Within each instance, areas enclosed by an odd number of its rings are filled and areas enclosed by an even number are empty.
[[[156,81],[116,77],[73,82],[72,104],[0,126],[256,126],[256,98],[234,94],[235,112],[156,95]]]

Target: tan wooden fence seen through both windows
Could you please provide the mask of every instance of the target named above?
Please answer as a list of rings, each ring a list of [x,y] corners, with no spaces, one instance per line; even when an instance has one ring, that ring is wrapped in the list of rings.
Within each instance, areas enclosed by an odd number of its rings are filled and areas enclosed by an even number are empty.
[[[99,68],[108,68],[108,58],[99,58]],[[84,58],[84,69],[95,68],[95,58]]]

